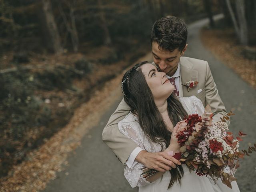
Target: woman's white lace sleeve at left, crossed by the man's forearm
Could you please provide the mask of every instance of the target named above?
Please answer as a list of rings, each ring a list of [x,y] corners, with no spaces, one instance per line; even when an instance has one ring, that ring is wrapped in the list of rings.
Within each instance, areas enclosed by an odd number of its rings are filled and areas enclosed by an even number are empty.
[[[144,144],[142,141],[144,140],[142,138],[141,129],[139,127],[138,122],[136,121],[129,121],[129,118],[125,118],[121,122],[118,123],[118,128],[122,134],[133,140],[140,148],[144,148]],[[126,180],[129,182],[129,184],[132,187],[140,187],[147,184],[150,184],[150,182],[146,181],[146,179],[141,176],[142,170],[144,165],[137,162],[132,168],[129,168],[126,164],[124,164],[124,176]]]

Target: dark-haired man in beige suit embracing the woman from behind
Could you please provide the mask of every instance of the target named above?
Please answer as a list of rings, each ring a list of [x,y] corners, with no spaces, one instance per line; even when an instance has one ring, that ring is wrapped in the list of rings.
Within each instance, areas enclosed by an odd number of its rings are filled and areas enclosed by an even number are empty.
[[[166,16],[157,20],[151,32],[151,46],[154,64],[165,72],[170,82],[174,84],[177,96],[198,97],[204,106],[210,104],[215,122],[226,115],[225,106],[220,99],[216,84],[208,62],[195,58],[181,57],[188,44],[186,24],[174,16]],[[198,84],[191,84],[191,82]],[[184,86],[188,84],[191,87]],[[102,132],[102,140],[116,154],[116,157],[129,168],[137,162],[147,168],[160,172],[175,168],[180,164],[178,160],[164,152],[150,153],[142,150],[132,140],[124,136],[118,129],[118,122],[122,120],[130,109],[122,100],[116,111],[110,117]]]

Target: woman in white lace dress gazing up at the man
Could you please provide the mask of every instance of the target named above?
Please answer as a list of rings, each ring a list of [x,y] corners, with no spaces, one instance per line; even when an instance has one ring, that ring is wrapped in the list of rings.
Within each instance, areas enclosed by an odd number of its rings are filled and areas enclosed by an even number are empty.
[[[204,112],[196,96],[177,99],[165,73],[148,62],[136,64],[124,74],[122,91],[131,112],[118,123],[118,128],[148,152],[179,152],[175,134],[186,127],[181,120],[188,114]],[[132,187],[139,186],[139,192],[239,192],[236,182],[232,182],[232,189],[220,180],[214,184],[206,176],[190,172],[184,164],[148,179],[141,176],[143,167],[141,163],[124,167],[124,176]]]

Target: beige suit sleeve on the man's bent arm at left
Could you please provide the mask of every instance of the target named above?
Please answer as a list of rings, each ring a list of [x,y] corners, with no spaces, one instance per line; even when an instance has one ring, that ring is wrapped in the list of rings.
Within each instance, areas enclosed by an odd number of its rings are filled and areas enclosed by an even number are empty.
[[[129,112],[129,106],[122,99],[116,111],[110,116],[102,132],[103,142],[116,154],[122,164],[125,164],[132,151],[138,147],[137,144],[127,138],[118,129],[118,122],[124,119]]]

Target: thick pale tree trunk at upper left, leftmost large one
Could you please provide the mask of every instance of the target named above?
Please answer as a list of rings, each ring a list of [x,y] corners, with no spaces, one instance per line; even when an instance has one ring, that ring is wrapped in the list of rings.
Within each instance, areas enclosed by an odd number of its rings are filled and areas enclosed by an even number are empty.
[[[46,28],[52,42],[52,49],[56,54],[60,54],[63,52],[63,48],[60,44],[60,35],[54,19],[54,15],[52,13],[51,1],[42,0],[42,5],[43,5],[42,10],[45,16]]]

